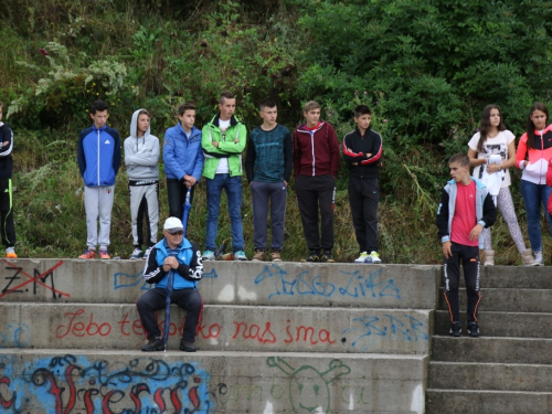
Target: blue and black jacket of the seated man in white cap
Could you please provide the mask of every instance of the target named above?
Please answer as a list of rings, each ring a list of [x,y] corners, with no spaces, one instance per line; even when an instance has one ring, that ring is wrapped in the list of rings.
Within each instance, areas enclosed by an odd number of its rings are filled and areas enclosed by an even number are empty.
[[[199,246],[188,238],[182,238],[182,243],[178,247],[180,251],[176,256],[180,263],[178,269],[164,272],[163,263],[164,258],[169,256],[168,247],[164,237],[153,246],[144,269],[144,279],[149,284],[157,284],[156,287],[164,288],[169,279],[169,272],[172,272],[174,290],[195,289],[198,282],[203,277],[203,261]],[[181,277],[176,277],[177,275]]]

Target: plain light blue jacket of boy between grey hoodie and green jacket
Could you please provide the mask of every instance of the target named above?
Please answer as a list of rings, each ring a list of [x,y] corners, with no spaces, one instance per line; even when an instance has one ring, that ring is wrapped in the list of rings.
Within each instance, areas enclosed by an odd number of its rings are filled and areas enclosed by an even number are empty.
[[[163,162],[167,178],[182,180],[184,176],[192,176],[199,182],[203,171],[201,130],[192,127],[190,139],[188,139],[180,124],[167,129]]]

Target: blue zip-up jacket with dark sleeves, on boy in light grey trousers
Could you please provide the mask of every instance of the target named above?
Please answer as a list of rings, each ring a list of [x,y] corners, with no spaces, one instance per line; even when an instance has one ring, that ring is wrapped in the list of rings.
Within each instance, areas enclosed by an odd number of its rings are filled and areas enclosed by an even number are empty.
[[[119,132],[107,125],[81,131],[78,137],[78,169],[86,187],[108,187],[115,184],[115,176],[120,166]]]

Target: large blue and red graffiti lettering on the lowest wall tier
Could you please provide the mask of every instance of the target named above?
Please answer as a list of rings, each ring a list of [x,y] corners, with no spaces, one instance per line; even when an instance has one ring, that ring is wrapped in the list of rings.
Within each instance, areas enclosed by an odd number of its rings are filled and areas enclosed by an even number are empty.
[[[136,358],[89,362],[67,354],[28,363],[23,374],[0,359],[2,413],[210,413],[209,373],[195,362]]]

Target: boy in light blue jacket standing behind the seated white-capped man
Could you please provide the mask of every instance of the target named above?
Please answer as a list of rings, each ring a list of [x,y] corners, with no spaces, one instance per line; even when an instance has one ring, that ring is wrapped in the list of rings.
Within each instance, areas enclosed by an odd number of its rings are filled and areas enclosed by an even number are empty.
[[[188,189],[193,200],[195,184],[203,171],[201,130],[195,128],[195,106],[185,103],[178,108],[179,124],[164,132],[163,161],[167,174],[169,215],[182,219]]]

